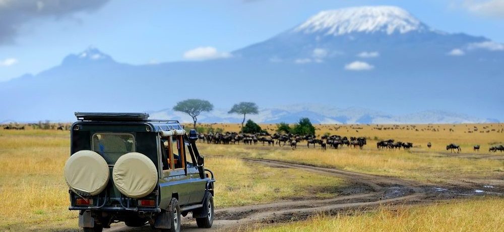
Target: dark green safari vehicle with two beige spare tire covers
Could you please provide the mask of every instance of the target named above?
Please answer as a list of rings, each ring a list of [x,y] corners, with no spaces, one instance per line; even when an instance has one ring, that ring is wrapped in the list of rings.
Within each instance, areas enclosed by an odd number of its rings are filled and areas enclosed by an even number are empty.
[[[75,113],[71,156],[65,164],[70,210],[84,231],[113,222],[149,223],[179,231],[192,213],[199,227],[214,219],[214,175],[205,169],[195,130],[146,113]]]

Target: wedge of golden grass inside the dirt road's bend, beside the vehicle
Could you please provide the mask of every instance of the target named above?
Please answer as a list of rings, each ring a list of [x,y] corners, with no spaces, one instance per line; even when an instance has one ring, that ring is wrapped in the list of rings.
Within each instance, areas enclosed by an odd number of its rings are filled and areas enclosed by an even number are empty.
[[[344,181],[319,173],[267,167],[236,158],[209,157],[208,167],[218,178],[215,189],[217,207],[273,202],[292,197],[335,196]],[[323,193],[321,189],[331,189]]]

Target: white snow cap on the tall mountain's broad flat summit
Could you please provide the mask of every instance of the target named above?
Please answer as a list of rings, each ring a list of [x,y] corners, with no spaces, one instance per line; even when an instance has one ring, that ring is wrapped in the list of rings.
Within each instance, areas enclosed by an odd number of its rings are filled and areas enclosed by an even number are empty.
[[[322,11],[294,29],[294,32],[344,35],[349,33],[387,34],[425,31],[428,27],[406,10],[393,6],[352,7]]]

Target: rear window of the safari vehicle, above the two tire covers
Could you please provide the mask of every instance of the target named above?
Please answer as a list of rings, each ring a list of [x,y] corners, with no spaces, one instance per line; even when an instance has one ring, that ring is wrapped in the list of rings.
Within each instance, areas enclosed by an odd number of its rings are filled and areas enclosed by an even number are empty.
[[[135,137],[126,133],[96,133],[91,140],[93,151],[105,158],[108,164],[128,152],[135,151]]]

